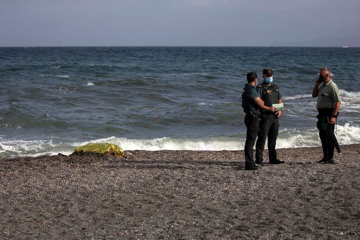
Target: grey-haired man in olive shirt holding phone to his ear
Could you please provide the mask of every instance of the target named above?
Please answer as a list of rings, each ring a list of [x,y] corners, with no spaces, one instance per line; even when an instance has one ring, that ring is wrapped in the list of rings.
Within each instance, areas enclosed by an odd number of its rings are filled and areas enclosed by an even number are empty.
[[[318,98],[316,107],[319,115],[316,126],[319,129],[324,154],[318,163],[334,163],[335,145],[332,137],[335,137],[333,133],[340,109],[340,95],[339,88],[332,81],[330,70],[327,67],[320,69],[319,78],[313,89],[313,98]]]

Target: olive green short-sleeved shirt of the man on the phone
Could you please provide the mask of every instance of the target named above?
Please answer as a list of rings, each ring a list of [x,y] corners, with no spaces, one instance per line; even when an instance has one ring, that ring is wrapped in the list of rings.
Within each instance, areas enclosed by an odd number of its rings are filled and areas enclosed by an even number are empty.
[[[318,103],[316,107],[322,108],[335,108],[335,103],[340,101],[339,88],[330,79],[327,83],[323,83],[319,87]]]

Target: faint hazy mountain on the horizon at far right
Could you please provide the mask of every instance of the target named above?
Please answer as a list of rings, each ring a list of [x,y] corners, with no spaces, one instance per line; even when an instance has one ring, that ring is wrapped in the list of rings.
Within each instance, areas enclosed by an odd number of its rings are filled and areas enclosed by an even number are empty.
[[[360,46],[360,35],[345,37],[317,37],[298,42],[273,41],[269,46]]]

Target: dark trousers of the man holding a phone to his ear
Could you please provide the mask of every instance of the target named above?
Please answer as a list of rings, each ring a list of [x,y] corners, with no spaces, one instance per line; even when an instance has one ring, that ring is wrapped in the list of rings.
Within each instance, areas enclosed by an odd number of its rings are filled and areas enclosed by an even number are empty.
[[[331,160],[334,157],[335,146],[330,138],[329,133],[327,132],[327,129],[324,129],[324,127],[322,126],[324,124],[324,121],[322,120],[324,120],[324,117],[326,117],[325,119],[327,120],[327,122],[329,122],[329,119],[332,116],[334,109],[319,109],[318,111],[319,115],[317,116],[318,122],[316,124],[316,127],[319,129],[319,137],[321,140],[321,146],[323,147],[323,159]],[[332,129],[332,132],[334,132],[335,125],[330,125],[329,127]]]

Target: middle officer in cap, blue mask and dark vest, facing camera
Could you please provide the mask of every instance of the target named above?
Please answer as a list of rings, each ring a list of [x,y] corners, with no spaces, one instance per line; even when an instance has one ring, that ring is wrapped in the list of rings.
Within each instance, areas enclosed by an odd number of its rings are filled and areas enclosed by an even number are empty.
[[[263,70],[264,82],[256,87],[260,98],[264,101],[265,106],[271,107],[273,104],[281,104],[281,94],[279,92],[278,84],[273,83],[273,70]],[[263,152],[265,148],[265,141],[268,137],[269,163],[280,164],[276,156],[276,139],[279,133],[279,118],[281,117],[281,110],[272,112],[263,109],[260,114],[260,126],[258,133],[258,140],[256,141],[255,163],[263,165]]]

